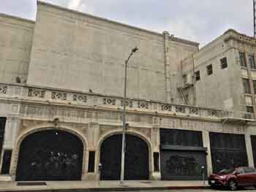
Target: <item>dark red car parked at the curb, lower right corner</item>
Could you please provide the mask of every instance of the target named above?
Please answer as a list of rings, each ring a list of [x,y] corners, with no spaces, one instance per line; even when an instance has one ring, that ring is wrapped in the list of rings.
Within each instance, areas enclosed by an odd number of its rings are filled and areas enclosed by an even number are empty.
[[[223,169],[217,174],[211,174],[208,177],[208,183],[212,188],[223,186],[230,188],[232,191],[236,191],[239,186],[256,187],[256,169],[247,166]]]

